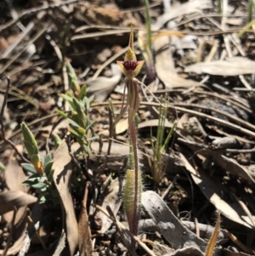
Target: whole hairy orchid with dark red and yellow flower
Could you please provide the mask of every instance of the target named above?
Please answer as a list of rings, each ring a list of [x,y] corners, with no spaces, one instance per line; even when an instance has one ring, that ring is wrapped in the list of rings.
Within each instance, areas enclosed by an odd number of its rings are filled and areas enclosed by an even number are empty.
[[[140,104],[139,82],[135,77],[137,77],[139,71],[144,65],[144,60],[137,60],[136,55],[134,54],[133,26],[131,26],[127,54],[125,55],[124,61],[117,61],[117,64],[120,66],[126,77],[125,88],[127,88],[127,105],[123,107],[124,104],[122,103],[122,110],[119,117],[116,118],[116,122],[122,118],[123,112],[128,109],[128,132],[130,136],[130,169],[127,170],[126,174],[124,206],[130,231],[134,236],[136,236],[138,233],[140,202],[142,195],[142,178],[139,170],[137,134],[134,121]],[[133,249],[135,248],[135,244],[136,242],[132,240],[131,245]]]

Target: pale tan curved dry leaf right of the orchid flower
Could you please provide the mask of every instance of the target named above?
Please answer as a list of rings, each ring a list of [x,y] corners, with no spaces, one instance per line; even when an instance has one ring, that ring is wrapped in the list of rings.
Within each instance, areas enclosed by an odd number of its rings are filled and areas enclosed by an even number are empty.
[[[198,82],[178,76],[169,46],[169,37],[159,37],[154,43],[157,76],[164,82],[167,88],[198,86]]]

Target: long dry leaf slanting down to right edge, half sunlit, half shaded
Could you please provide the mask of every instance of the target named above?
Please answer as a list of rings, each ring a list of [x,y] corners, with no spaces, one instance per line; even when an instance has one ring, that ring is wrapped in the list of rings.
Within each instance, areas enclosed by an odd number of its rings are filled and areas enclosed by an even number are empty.
[[[196,172],[184,155],[180,154],[180,157],[183,160],[185,168],[190,172],[195,184],[200,187],[203,194],[220,213],[236,223],[245,225],[250,229],[254,228],[251,219],[244,213],[238,202],[233,202],[232,200],[229,200],[229,202],[226,201],[223,195],[228,195],[229,190],[224,185],[220,183],[216,184],[201,168],[198,168],[198,172]],[[254,218],[254,216],[252,217]]]

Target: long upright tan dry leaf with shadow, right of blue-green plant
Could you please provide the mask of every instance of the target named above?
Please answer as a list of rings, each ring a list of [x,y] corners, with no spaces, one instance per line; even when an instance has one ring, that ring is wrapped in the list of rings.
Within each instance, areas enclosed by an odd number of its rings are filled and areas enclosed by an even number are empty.
[[[65,141],[54,152],[54,183],[62,205],[69,255],[74,255],[78,246],[78,225],[71,197],[72,164]]]

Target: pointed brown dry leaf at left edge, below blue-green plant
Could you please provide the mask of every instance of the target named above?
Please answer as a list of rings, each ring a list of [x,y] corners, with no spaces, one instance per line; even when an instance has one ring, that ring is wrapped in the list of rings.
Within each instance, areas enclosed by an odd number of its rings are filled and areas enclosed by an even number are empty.
[[[0,194],[0,214],[12,211],[14,207],[30,205],[37,202],[36,196],[28,195],[22,191],[6,191]]]

